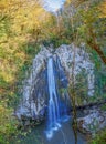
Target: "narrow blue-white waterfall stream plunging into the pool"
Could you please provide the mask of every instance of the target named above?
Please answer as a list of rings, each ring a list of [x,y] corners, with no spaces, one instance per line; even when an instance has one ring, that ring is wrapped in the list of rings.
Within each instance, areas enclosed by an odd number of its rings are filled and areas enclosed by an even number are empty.
[[[49,112],[47,112],[47,137],[52,136],[52,131],[57,130],[60,122],[60,103],[56,90],[56,81],[54,74],[54,62],[51,56],[47,61],[47,85],[49,85]]]

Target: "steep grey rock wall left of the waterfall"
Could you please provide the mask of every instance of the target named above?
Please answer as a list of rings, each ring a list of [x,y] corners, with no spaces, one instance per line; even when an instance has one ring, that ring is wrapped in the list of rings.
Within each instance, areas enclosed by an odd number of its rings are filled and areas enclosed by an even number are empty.
[[[46,109],[45,63],[50,55],[50,51],[43,47],[33,60],[30,75],[23,81],[21,103],[15,111],[19,120],[22,120],[22,115],[34,120],[44,117]]]

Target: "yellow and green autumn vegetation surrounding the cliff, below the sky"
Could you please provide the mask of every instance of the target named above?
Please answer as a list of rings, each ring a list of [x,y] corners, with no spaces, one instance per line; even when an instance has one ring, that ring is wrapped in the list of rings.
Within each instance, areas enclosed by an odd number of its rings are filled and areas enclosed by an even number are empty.
[[[86,44],[86,51],[92,53],[96,64],[96,79],[99,76],[96,83],[106,93],[105,0],[67,0],[57,17],[46,12],[35,0],[0,0],[1,144],[8,143],[17,132],[13,109],[21,96],[25,71],[40,50],[40,44],[47,47],[52,43],[56,48],[71,42]],[[102,91],[98,92],[102,94]]]

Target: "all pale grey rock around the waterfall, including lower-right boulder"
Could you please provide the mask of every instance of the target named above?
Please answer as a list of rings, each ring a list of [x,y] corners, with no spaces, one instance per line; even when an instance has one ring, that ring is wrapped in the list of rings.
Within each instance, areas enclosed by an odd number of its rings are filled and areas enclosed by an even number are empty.
[[[74,75],[75,83],[77,83],[76,76],[83,72],[86,76],[86,97],[94,96],[95,93],[95,64],[91,60],[91,55],[85,51],[84,44],[81,48],[75,44],[62,44],[57,49],[53,49],[52,45],[45,48],[41,45],[41,50],[33,60],[30,74],[23,81],[22,100],[19,107],[15,111],[15,115],[19,120],[25,120],[25,125],[30,124],[30,120],[35,122],[42,122],[46,119],[46,110],[49,103],[49,88],[46,76],[46,64],[49,58],[53,58],[55,63],[55,76],[57,81],[59,93],[61,101],[66,103],[67,111],[72,107],[71,94],[68,94],[70,82],[72,81],[72,64],[74,61]],[[75,59],[74,59],[75,56]],[[83,100],[82,105],[86,104],[87,101]],[[76,106],[78,102],[76,99]],[[64,104],[63,104],[64,105]],[[64,113],[63,111],[61,113]],[[78,130],[83,133],[94,133],[92,125],[95,126],[95,132],[106,126],[106,113],[100,110],[89,110],[84,112],[83,117],[77,119]],[[92,117],[92,119],[89,119]],[[98,120],[99,117],[99,120]],[[96,123],[96,125],[95,125]]]

